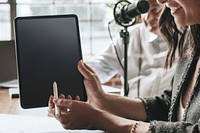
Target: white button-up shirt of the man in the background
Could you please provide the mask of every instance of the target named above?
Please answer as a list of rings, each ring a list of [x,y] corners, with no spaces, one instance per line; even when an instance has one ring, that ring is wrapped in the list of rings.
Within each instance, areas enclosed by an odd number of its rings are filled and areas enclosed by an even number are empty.
[[[139,79],[140,97],[160,95],[164,89],[169,87],[175,72],[175,65],[167,73],[163,67],[167,54],[167,44],[157,35],[149,32],[143,23],[130,27],[129,35],[128,96],[137,96]],[[116,45],[120,60],[124,64],[124,44],[122,38],[115,38],[114,44]],[[142,59],[141,66],[139,65],[139,58]],[[108,81],[117,73],[121,75],[122,82],[124,82],[124,72],[119,65],[113,45],[108,45],[92,61],[87,61],[86,63],[95,70],[102,83]],[[141,67],[140,72],[139,67]],[[122,95],[123,92],[124,90],[122,89]]]

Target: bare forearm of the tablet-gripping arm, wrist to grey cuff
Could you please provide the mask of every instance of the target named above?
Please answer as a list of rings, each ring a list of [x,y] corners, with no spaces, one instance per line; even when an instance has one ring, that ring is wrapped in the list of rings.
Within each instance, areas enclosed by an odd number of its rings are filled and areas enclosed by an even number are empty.
[[[147,117],[145,105],[139,98],[106,94],[101,104],[101,109],[124,118],[145,121]]]

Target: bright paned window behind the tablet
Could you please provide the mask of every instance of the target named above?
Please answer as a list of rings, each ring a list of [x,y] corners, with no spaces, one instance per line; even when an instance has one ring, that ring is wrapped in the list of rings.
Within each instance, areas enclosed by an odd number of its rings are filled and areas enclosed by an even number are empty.
[[[108,22],[116,0],[0,0],[0,41],[12,40],[15,16],[76,14],[84,55],[101,51],[110,42]],[[12,11],[11,11],[12,9]],[[14,9],[14,10],[13,10]]]

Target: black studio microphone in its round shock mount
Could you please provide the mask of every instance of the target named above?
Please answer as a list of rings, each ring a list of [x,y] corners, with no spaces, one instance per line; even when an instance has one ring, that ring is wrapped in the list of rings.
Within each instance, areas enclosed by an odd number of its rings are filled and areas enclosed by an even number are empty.
[[[114,18],[119,25],[129,26],[132,25],[133,18],[148,12],[148,10],[147,0],[136,0],[134,3],[119,1],[114,7]]]

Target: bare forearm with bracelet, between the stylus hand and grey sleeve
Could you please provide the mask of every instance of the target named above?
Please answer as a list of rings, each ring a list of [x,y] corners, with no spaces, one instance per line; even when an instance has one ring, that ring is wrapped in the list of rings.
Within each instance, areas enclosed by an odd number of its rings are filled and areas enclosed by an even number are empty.
[[[97,110],[97,115],[93,128],[104,130],[107,132],[115,133],[147,133],[149,129],[149,123],[142,121],[128,120],[113,114],[110,114],[103,110]],[[121,123],[119,123],[119,121]],[[123,123],[123,124],[122,124]]]

